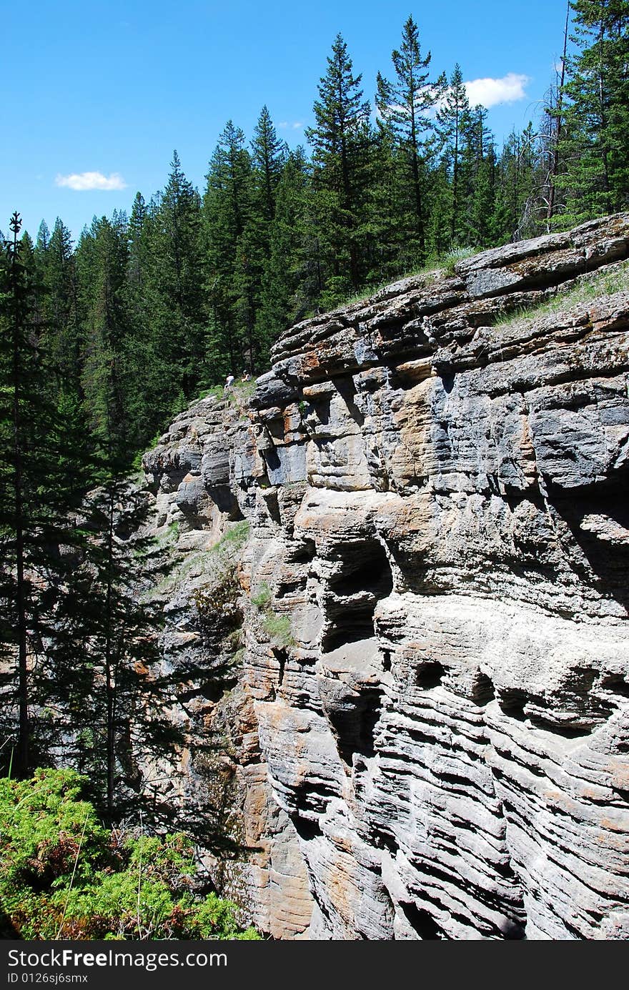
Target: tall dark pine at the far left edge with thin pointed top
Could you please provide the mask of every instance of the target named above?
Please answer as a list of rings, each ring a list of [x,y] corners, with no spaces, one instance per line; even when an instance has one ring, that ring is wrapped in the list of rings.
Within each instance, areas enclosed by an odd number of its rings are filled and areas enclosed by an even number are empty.
[[[18,214],[5,245],[0,310],[0,642],[15,657],[16,766],[28,774],[38,751],[34,678],[55,636],[54,611],[67,575],[61,546],[80,543],[71,513],[86,485],[83,429],[73,409],[51,401],[45,341],[32,319],[32,286],[18,241]],[[77,442],[77,437],[79,438]],[[44,758],[45,755],[44,755]]]

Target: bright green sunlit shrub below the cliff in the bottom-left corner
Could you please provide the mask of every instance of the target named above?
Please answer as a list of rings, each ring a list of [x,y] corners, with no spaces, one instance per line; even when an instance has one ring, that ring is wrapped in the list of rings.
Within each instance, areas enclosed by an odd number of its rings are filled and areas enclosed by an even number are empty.
[[[21,939],[259,939],[236,905],[194,892],[183,835],[121,837],[73,770],[0,778],[0,924]]]

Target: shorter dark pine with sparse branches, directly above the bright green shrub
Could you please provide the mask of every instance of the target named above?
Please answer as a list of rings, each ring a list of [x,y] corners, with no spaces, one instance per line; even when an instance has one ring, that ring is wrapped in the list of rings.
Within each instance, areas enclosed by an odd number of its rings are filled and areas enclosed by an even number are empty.
[[[159,689],[168,689],[156,673],[160,617],[138,600],[139,559],[148,551],[148,541],[135,537],[130,543],[130,534],[142,529],[148,505],[122,473],[125,466],[124,460],[110,460],[101,484],[82,507],[89,541],[84,562],[73,575],[73,602],[66,617],[74,647],[82,645],[84,657],[82,682],[73,688],[78,710],[70,720],[78,743],[75,759],[82,760],[80,768],[104,791],[110,822],[138,790],[134,737],[141,726],[143,752],[155,755],[154,735],[163,731],[158,712],[167,703],[167,694],[159,698]],[[72,655],[66,642],[66,674]],[[63,684],[59,678],[58,665],[55,673],[65,692],[67,680]]]

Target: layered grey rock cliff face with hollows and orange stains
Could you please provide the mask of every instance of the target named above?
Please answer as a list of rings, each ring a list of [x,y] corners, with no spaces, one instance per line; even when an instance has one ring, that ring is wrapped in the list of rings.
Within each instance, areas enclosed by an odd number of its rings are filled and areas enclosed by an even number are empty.
[[[404,279],[146,456],[184,544],[251,524],[204,724],[276,938],[629,938],[628,256],[620,215]]]

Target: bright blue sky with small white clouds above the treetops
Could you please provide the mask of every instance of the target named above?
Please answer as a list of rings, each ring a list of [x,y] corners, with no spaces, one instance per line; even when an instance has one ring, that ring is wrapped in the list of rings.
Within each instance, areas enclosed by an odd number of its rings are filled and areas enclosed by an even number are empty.
[[[511,98],[489,109],[498,140],[535,117],[566,0],[0,0],[0,229],[17,209],[33,236],[58,215],[76,237],[161,188],[173,148],[202,189],[226,121],[251,138],[264,103],[303,143],[337,32],[372,100],[409,14],[436,72],[459,61],[478,101]]]

